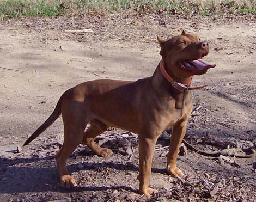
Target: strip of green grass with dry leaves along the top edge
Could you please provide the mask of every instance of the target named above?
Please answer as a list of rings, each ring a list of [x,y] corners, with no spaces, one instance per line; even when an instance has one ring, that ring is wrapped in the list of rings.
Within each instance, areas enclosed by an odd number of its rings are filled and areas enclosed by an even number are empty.
[[[0,20],[58,16],[65,13],[109,13],[132,10],[138,13],[161,12],[167,14],[256,14],[255,0],[0,0]]]

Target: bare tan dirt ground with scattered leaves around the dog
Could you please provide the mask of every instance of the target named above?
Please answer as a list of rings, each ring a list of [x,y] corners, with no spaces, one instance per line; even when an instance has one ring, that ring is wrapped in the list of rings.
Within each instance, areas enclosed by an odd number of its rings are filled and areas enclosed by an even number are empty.
[[[91,28],[94,33],[66,34]],[[0,25],[0,201],[255,201],[256,159],[215,157],[188,150],[178,157],[186,176],[165,173],[169,136],[157,142],[151,198],[137,194],[137,134],[111,128],[97,142],[125,151],[97,157],[80,145],[69,159],[78,185],[59,186],[54,154],[63,142],[61,117],[39,138],[15,153],[53,111],[66,89],[92,79],[136,80],[153,75],[161,60],[156,35],[168,39],[181,30],[210,42],[205,58],[217,64],[196,76],[194,109],[185,139],[214,152],[255,150],[256,18],[158,14],[109,14],[10,20]],[[122,136],[122,137],[121,137]],[[104,138],[105,137],[105,138]],[[119,149],[119,150],[118,150]]]

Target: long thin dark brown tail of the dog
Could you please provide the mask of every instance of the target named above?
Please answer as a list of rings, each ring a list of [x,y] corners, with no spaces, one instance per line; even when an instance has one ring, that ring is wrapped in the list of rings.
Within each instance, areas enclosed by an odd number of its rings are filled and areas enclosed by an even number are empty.
[[[45,121],[44,124],[42,124],[38,129],[36,129],[36,131],[31,135],[31,137],[29,137],[27,139],[27,141],[23,144],[23,146],[29,144],[32,142],[32,140],[34,140],[36,137],[39,136],[39,134],[41,134],[42,132],[44,132],[46,130],[47,127],[49,127],[50,125],[53,124],[54,121],[56,121],[56,119],[60,116],[60,114],[62,113],[62,100],[65,97],[66,92],[60,97],[54,111],[52,112],[52,114],[50,115],[50,117]]]

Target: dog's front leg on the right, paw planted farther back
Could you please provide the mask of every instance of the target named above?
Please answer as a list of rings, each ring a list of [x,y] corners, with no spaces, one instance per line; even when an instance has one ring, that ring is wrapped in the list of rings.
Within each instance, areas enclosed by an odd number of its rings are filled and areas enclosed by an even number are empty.
[[[167,154],[167,173],[173,177],[184,175],[176,166],[176,158],[179,153],[180,144],[186,134],[187,121],[176,123],[172,129],[172,137],[170,139],[170,149]]]

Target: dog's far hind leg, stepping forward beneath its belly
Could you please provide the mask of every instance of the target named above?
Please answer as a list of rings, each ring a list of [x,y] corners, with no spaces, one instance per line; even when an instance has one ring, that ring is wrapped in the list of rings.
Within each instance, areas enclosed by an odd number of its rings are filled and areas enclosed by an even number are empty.
[[[103,123],[100,123],[100,127],[94,123],[90,123],[89,128],[86,130],[86,132],[84,132],[83,144],[86,144],[89,149],[91,149],[96,155],[101,157],[112,154],[112,151],[111,149],[101,148],[100,146],[95,144],[94,139],[96,138],[96,136],[106,131],[107,128],[108,126]]]

